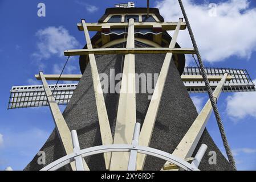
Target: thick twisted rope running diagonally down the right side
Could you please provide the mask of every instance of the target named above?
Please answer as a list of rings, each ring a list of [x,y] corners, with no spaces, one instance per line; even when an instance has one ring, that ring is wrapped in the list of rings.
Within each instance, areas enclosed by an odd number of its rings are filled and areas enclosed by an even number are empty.
[[[196,39],[194,38],[193,31],[192,31],[192,28],[189,24],[188,16],[186,15],[186,11],[184,9],[183,3],[182,3],[181,0],[178,0],[178,3],[180,3],[181,11],[182,11],[182,14],[184,16],[186,25],[188,26],[189,35],[190,35],[190,38],[192,40],[194,50],[196,51],[197,59],[198,59],[198,62],[200,64],[200,69],[201,69],[201,72],[202,72],[202,77],[204,78],[206,89],[208,90],[210,102],[212,103],[213,111],[214,111],[214,114],[215,114],[215,117],[216,117],[216,120],[217,120],[217,123],[218,123],[218,127],[220,129],[221,138],[222,138],[222,142],[224,144],[225,150],[226,150],[227,158],[229,159],[229,163],[230,163],[231,167],[233,168],[233,170],[236,170],[237,168],[235,167],[235,160],[234,160],[232,152],[230,150],[229,143],[227,142],[227,138],[226,138],[226,134],[225,134],[225,130],[224,130],[224,125],[221,121],[221,116],[220,116],[220,113],[218,111],[216,101],[214,100],[214,97],[213,97],[212,88],[210,87],[209,80],[208,80],[206,72],[205,72],[204,64],[202,63],[202,59],[201,59],[201,56],[200,56],[199,49],[197,47]]]

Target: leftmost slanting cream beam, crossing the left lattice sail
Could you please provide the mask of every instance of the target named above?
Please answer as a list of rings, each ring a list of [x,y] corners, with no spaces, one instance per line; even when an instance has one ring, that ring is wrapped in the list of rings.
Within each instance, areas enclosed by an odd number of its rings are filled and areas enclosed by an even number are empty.
[[[57,130],[57,133],[59,135],[60,141],[63,144],[64,150],[66,154],[72,154],[73,153],[73,144],[72,144],[72,138],[71,138],[71,131],[67,126],[67,123],[62,115],[62,113],[59,110],[59,106],[55,101],[54,96],[52,96],[52,92],[47,84],[46,79],[44,78],[43,72],[39,73],[40,78],[42,80],[44,92],[46,93],[47,101],[51,110],[52,117],[54,118],[55,127]],[[89,170],[86,162],[84,162],[84,169]],[[73,171],[76,170],[75,163],[72,162],[71,168]]]

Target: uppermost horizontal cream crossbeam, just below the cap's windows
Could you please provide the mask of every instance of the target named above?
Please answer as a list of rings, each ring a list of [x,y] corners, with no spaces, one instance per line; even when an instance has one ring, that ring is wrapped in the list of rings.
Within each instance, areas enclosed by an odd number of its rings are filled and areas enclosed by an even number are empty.
[[[128,27],[128,22],[119,23],[86,23],[88,31],[101,31],[101,28],[124,28]],[[135,28],[161,27],[163,31],[175,30],[178,22],[135,22]],[[83,31],[83,24],[78,23],[78,30]],[[186,29],[186,23],[181,22],[180,30]]]

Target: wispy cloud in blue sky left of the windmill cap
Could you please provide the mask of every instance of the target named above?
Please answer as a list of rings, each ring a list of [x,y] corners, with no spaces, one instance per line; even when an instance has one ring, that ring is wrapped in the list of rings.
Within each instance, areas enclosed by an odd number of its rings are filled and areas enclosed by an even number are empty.
[[[36,32],[38,52],[32,54],[36,59],[49,59],[52,55],[64,56],[64,50],[78,48],[78,40],[62,26],[47,27]]]

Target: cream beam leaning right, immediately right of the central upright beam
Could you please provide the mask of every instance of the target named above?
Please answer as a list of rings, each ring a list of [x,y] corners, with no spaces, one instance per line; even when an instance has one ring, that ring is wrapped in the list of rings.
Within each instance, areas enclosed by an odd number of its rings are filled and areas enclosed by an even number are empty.
[[[178,32],[180,31],[182,18],[178,21],[178,24],[176,26],[176,29],[174,31],[172,41],[170,42],[169,48],[174,48],[177,41]],[[162,98],[162,92],[164,91],[164,85],[166,78],[168,76],[170,61],[172,60],[173,53],[166,53],[164,63],[162,64],[162,68],[160,71],[159,78],[157,80],[156,88],[154,90],[152,100],[149,104],[147,114],[145,116],[143,126],[141,128],[140,132],[140,139],[139,139],[139,145],[140,146],[149,146],[151,142],[151,137],[153,133],[153,129],[155,127],[155,121],[157,117],[157,113],[159,110],[160,101]],[[137,169],[142,170],[144,167],[146,155],[139,154],[137,159]]]

